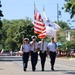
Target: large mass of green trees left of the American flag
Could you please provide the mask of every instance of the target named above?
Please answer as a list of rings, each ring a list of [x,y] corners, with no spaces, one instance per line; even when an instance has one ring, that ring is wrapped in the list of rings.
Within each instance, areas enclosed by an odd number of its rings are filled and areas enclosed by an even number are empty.
[[[22,44],[22,35],[31,40],[31,36],[34,35],[33,23],[29,18],[19,19],[19,20],[2,20],[3,26],[0,47],[4,48],[6,51],[19,50]]]

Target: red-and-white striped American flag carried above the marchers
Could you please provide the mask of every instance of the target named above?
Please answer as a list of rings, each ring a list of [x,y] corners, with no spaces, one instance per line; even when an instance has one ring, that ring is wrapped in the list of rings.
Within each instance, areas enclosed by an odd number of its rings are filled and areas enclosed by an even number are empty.
[[[37,9],[34,9],[34,33],[44,34],[44,32],[42,32],[42,28],[46,30],[41,14],[37,11]]]

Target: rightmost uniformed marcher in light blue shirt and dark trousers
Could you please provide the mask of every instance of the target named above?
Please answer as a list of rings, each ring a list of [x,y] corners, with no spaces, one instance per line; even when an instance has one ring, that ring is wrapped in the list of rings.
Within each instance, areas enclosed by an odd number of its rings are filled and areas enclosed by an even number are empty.
[[[51,70],[54,71],[54,64],[55,64],[56,52],[58,51],[58,47],[53,37],[51,38],[51,42],[48,44],[48,50],[51,59]]]

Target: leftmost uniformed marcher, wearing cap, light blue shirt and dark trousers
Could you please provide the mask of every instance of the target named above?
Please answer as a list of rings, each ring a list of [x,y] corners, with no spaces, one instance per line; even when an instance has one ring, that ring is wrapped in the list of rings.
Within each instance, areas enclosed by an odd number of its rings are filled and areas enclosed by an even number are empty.
[[[29,59],[29,52],[30,52],[30,45],[28,44],[29,39],[24,39],[24,44],[21,45],[22,50],[22,59],[23,59],[23,70],[26,71],[28,59]]]

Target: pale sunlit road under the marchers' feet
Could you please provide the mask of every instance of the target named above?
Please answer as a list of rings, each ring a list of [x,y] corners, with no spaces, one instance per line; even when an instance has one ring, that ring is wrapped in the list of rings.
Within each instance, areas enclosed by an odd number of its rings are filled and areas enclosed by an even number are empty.
[[[0,61],[0,75],[75,75],[75,60],[57,58],[55,71],[51,71],[50,60],[46,59],[45,71],[41,71],[40,59],[36,71],[31,70],[31,61],[28,62],[27,71],[22,69],[22,61]]]

